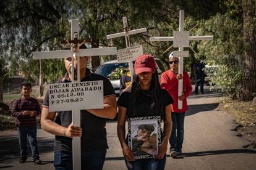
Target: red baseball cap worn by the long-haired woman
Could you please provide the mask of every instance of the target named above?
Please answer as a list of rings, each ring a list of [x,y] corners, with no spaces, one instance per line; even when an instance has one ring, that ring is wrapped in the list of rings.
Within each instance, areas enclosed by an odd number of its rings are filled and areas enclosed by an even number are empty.
[[[135,60],[134,65],[135,74],[139,75],[142,72],[155,73],[156,62],[152,55],[143,54]]]

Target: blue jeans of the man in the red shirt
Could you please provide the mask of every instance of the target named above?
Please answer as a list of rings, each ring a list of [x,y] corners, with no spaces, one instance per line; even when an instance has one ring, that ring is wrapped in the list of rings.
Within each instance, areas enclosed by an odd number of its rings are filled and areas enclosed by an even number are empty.
[[[183,139],[184,139],[184,119],[185,112],[182,113],[171,113],[172,129],[171,137],[169,142],[171,144],[171,149],[174,148],[177,152],[181,152]]]

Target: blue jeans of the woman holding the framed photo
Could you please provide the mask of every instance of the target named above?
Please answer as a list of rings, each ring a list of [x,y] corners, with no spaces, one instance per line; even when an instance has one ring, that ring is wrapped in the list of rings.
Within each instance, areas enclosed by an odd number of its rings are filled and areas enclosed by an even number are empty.
[[[129,170],[162,170],[166,163],[166,155],[161,160],[150,158],[135,161],[126,161],[126,166]]]

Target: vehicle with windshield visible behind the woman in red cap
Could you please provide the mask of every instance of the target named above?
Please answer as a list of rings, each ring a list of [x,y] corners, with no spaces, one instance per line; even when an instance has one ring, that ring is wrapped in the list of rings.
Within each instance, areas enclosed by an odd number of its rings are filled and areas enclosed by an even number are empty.
[[[159,78],[161,78],[161,73],[163,73],[163,71],[165,71],[164,67],[163,67],[163,63],[161,63],[160,59],[158,59],[158,58],[155,58],[155,61],[156,61],[157,72],[158,72]],[[120,66],[127,68],[129,66],[129,62],[119,63],[117,60],[111,60],[109,62],[102,63],[97,68],[95,73],[109,78],[109,75],[111,74],[111,72],[114,71],[116,68],[119,68]],[[120,79],[110,79],[110,81],[114,87],[116,97],[119,97]]]

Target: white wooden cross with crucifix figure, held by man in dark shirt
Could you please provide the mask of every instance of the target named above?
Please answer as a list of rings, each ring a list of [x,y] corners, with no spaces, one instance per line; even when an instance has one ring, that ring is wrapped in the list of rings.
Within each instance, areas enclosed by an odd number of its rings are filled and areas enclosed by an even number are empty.
[[[76,34],[75,36],[73,36]],[[77,40],[74,39],[77,38]],[[79,20],[71,20],[71,41],[70,43],[81,43],[78,41],[79,38]],[[33,52],[34,59],[61,59],[66,57],[77,57],[77,81],[80,81],[80,56],[95,56],[95,55],[116,55],[116,47],[107,48],[94,48],[94,49],[80,49],[79,47],[73,47],[71,50],[63,51],[49,51],[49,52]],[[72,57],[72,73],[74,73],[74,57]],[[72,74],[72,83],[74,83],[74,74]],[[88,96],[90,98],[90,96]],[[103,101],[103,99],[102,99]],[[101,103],[101,102],[99,102]],[[103,103],[103,102],[102,102]],[[90,107],[90,106],[88,106]],[[88,109],[87,107],[87,109]],[[102,108],[99,106],[98,108]],[[70,105],[70,110],[72,110],[72,123],[75,126],[80,127],[80,109],[77,107],[72,107]],[[59,110],[62,111],[62,110]],[[81,169],[81,141],[80,137],[74,137],[73,143],[73,169]]]

